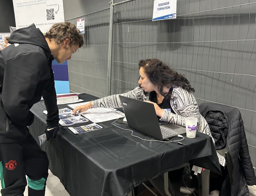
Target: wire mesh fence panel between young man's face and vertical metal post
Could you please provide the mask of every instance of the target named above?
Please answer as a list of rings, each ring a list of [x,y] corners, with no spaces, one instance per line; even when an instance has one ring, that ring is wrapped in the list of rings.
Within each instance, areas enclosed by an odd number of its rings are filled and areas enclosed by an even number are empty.
[[[69,60],[70,91],[97,97],[106,96],[110,9],[100,10],[68,21],[76,25],[85,18],[84,45]]]

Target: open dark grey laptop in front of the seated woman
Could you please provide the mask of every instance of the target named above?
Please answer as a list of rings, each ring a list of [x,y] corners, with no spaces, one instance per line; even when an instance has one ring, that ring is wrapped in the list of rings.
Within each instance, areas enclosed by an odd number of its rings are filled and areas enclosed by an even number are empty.
[[[186,128],[174,125],[159,125],[155,107],[151,103],[119,95],[129,127],[163,141],[186,133]]]

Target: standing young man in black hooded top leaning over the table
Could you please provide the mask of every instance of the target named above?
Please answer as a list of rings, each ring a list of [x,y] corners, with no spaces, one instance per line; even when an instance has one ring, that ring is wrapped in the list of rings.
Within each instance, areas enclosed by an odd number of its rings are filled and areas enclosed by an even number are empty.
[[[48,158],[29,133],[34,115],[29,111],[43,96],[47,108],[47,139],[59,129],[52,60],[71,59],[83,45],[74,24],[54,24],[43,35],[34,24],[14,31],[11,45],[0,51],[0,179],[2,196],[45,194]]]

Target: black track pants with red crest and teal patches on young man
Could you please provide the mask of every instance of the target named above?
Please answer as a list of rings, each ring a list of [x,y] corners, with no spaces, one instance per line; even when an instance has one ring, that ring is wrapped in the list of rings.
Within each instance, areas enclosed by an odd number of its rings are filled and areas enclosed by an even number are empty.
[[[19,143],[0,143],[2,196],[23,196],[28,176],[29,196],[44,196],[49,161],[30,133]]]

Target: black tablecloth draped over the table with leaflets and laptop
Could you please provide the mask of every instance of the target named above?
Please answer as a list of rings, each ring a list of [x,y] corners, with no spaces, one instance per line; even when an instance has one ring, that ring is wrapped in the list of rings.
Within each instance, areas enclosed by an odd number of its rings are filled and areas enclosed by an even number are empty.
[[[80,97],[85,101],[96,99],[89,94]],[[67,105],[59,105],[59,109],[64,107]],[[31,109],[35,114],[35,121],[30,126],[34,138],[42,135],[46,129],[43,110],[43,101]],[[112,122],[114,120],[98,123],[103,129],[76,135],[67,127],[60,127],[56,139],[43,144],[50,170],[71,196],[127,195],[142,182],[186,163],[191,155],[192,151],[187,146],[144,141],[131,136],[131,131],[113,126]],[[130,129],[125,124],[115,124]],[[134,135],[153,139],[138,131],[134,131]],[[197,133],[196,138],[185,137],[182,143],[193,148],[190,163],[220,173],[218,157],[209,136]]]

